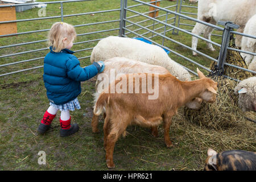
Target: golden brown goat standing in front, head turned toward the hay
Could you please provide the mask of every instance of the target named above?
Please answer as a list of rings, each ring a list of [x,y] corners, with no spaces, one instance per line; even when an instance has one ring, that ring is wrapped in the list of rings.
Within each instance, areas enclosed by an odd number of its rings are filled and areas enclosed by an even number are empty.
[[[164,127],[164,143],[167,147],[172,146],[169,137],[170,125],[172,116],[177,113],[177,109],[191,101],[193,98],[199,97],[207,102],[216,101],[217,82],[210,80],[197,69],[199,80],[195,81],[180,81],[171,74],[158,75],[151,73],[135,73],[126,75],[126,85],[121,85],[120,80],[115,80],[107,89],[100,94],[94,107],[94,114],[100,115],[105,107],[105,122],[104,122],[104,148],[106,150],[106,164],[108,168],[114,168],[113,152],[115,142],[117,142],[126,127],[131,124],[136,124],[144,127],[155,127],[163,122]],[[135,88],[135,80],[139,78],[139,89],[142,90],[143,78],[145,75],[148,84],[151,84],[148,75],[151,74],[151,80],[158,78],[158,83],[152,82],[152,88],[158,87],[158,97],[156,99],[148,99],[152,96],[152,92],[146,93],[111,93],[111,89],[115,86],[124,88],[133,85]],[[131,75],[133,75],[131,80]],[[130,78],[129,78],[130,77]],[[124,79],[124,78],[123,78]],[[130,81],[131,80],[131,81]],[[137,82],[138,83],[138,82]]]

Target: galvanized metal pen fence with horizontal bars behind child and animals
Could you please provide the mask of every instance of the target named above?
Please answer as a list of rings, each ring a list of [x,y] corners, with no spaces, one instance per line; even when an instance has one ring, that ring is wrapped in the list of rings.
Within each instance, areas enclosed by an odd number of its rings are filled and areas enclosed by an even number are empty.
[[[120,9],[114,9],[114,10],[105,10],[105,11],[95,11],[95,12],[89,12],[89,13],[81,13],[81,14],[72,14],[72,15],[64,15],[63,13],[63,3],[66,3],[66,2],[80,2],[80,1],[86,1],[86,0],[75,0],[75,1],[56,1],[56,2],[46,2],[46,3],[60,3],[61,5],[61,15],[60,16],[49,16],[49,17],[45,17],[45,18],[34,18],[34,19],[22,19],[22,20],[14,20],[16,22],[23,22],[23,21],[32,21],[32,20],[40,20],[40,19],[51,19],[51,18],[61,18],[61,21],[63,21],[64,17],[71,17],[71,16],[77,16],[77,15],[87,15],[87,14],[96,14],[96,13],[108,13],[108,12],[112,12],[112,11],[120,11],[120,19],[118,20],[109,20],[109,21],[105,21],[105,22],[96,22],[96,23],[88,23],[88,24],[79,24],[79,25],[76,25],[74,27],[82,27],[82,26],[89,26],[89,25],[93,25],[93,24],[101,24],[101,23],[112,23],[112,22],[120,22],[119,23],[119,28],[112,28],[112,29],[109,29],[109,30],[101,30],[101,31],[94,31],[94,32],[87,32],[87,33],[84,33],[84,34],[79,34],[77,36],[84,36],[84,35],[91,35],[91,34],[97,34],[97,33],[101,33],[101,32],[108,32],[108,31],[115,31],[115,30],[119,30],[119,36],[124,36],[124,37],[127,37],[127,34],[134,34],[135,36],[140,36],[146,40],[149,40],[150,42],[164,48],[164,49],[167,49],[168,51],[174,53],[175,55],[179,56],[179,57],[182,57],[183,59],[193,63],[193,64],[196,64],[197,66],[199,66],[200,68],[203,68],[205,69],[206,71],[210,72],[211,70],[209,68],[206,68],[204,67],[203,65],[199,64],[199,63],[196,63],[196,61],[193,61],[191,59],[189,59],[188,57],[185,57],[183,55],[181,55],[180,53],[177,53],[173,50],[171,50],[170,48],[168,47],[165,47],[164,46],[164,39],[167,39],[167,40],[170,40],[171,42],[175,43],[175,44],[178,44],[182,47],[185,47],[191,51],[195,51],[197,53],[199,53],[200,55],[203,55],[204,57],[207,57],[208,59],[212,60],[212,61],[215,61],[217,62],[218,60],[214,59],[213,57],[210,57],[208,55],[205,55],[204,53],[200,52],[200,51],[196,51],[194,49],[192,49],[191,47],[188,47],[186,46],[185,44],[182,44],[180,42],[177,42],[176,40],[174,39],[171,39],[171,38],[168,38],[166,36],[166,32],[168,31],[182,31],[184,32],[185,34],[189,34],[189,35],[192,35],[192,36],[195,36],[201,40],[204,40],[205,42],[208,42],[208,43],[212,43],[214,44],[215,46],[218,46],[218,47],[221,47],[220,44],[217,44],[215,42],[212,42],[211,40],[208,40],[208,39],[205,39],[199,35],[195,35],[195,34],[192,34],[191,32],[189,32],[189,30],[184,30],[183,28],[180,28],[179,26],[180,25],[183,25],[183,26],[193,26],[192,24],[187,24],[187,23],[180,23],[180,19],[187,19],[187,20],[192,20],[193,22],[198,22],[198,23],[202,23],[202,24],[205,24],[206,26],[210,26],[210,27],[213,27],[213,28],[216,28],[216,30],[219,30],[219,31],[224,31],[224,28],[222,27],[218,27],[218,26],[215,26],[213,24],[210,24],[210,23],[206,23],[206,22],[203,22],[201,20],[198,20],[198,19],[195,19],[195,18],[192,18],[190,16],[187,16],[187,15],[184,15],[184,14],[189,14],[189,15],[196,15],[196,14],[193,14],[193,13],[189,13],[189,12],[185,12],[185,11],[181,11],[181,7],[193,7],[193,8],[197,8],[197,7],[194,7],[194,6],[187,6],[187,5],[182,5],[182,1],[180,1],[180,10],[179,10],[179,13],[177,13],[177,9],[178,9],[178,5],[179,5],[179,1],[177,0],[177,3],[176,5],[172,5],[172,6],[167,6],[167,7],[159,7],[159,6],[155,6],[155,5],[152,5],[151,3],[155,3],[155,2],[160,2],[162,0],[156,0],[156,1],[152,1],[150,3],[147,3],[147,2],[143,2],[143,1],[139,1],[139,0],[133,0],[134,2],[138,2],[139,4],[137,5],[132,5],[132,6],[127,6],[127,0],[121,0],[121,7]],[[87,0],[87,1],[92,1],[92,0]],[[38,5],[39,3],[31,3],[33,5]],[[28,4],[27,4],[28,5]],[[152,12],[156,12],[156,9],[158,9],[159,11],[160,10],[163,10],[166,12],[166,14],[163,14],[163,15],[159,15],[158,17],[155,17],[155,18],[152,18],[150,16],[147,16],[145,14],[147,13],[150,13],[151,11],[148,11],[146,13],[139,13],[137,11],[134,11],[134,10],[131,10],[130,8],[133,8],[133,7],[138,7],[138,6],[142,6],[142,5],[147,5],[147,6],[151,6],[151,7],[155,7],[155,10],[152,11]],[[6,5],[3,5],[3,6],[6,6]],[[11,6],[11,5],[7,5],[7,6]],[[22,6],[25,6],[25,4],[23,4]],[[2,6],[0,6],[1,8]],[[171,8],[171,7],[176,7],[176,11],[171,11],[171,10],[168,10],[167,8]],[[133,16],[129,16],[126,18],[126,11],[130,11],[132,13],[135,13],[135,15]],[[182,14],[183,13],[183,14]],[[170,14],[174,14],[174,17],[168,19],[168,15]],[[135,18],[137,16],[144,16],[146,17],[147,19],[146,20],[142,20],[140,22],[132,22],[131,18]],[[159,20],[158,18],[159,17],[162,17],[162,16],[166,16],[166,19],[165,20]],[[177,23],[177,26],[176,25],[176,16],[179,16],[179,22]],[[167,23],[168,20],[172,20],[174,19],[174,22],[173,23]],[[139,23],[143,23],[143,22],[147,22],[148,20],[153,20],[154,23],[153,24],[150,24],[150,25],[147,25],[147,26],[141,26]],[[6,22],[0,22],[0,23],[7,23],[7,22],[10,22],[10,21],[6,21]],[[122,22],[122,23],[121,23]],[[126,25],[126,22],[127,23],[130,23],[129,25]],[[158,28],[155,28],[154,29],[154,26],[156,24],[163,24],[162,27],[158,27]],[[173,25],[174,24],[174,25]],[[129,27],[131,26],[137,26],[139,27],[138,29],[136,30],[129,30]],[[150,30],[148,27],[151,27],[153,26],[153,29],[154,30]],[[170,29],[167,30],[167,27],[170,27]],[[161,30],[162,28],[164,28],[164,31],[163,32],[156,32],[158,30]],[[28,31],[28,32],[19,32],[19,33],[16,33],[16,34],[9,34],[9,35],[4,35],[4,36],[10,36],[10,35],[22,35],[22,34],[32,34],[32,33],[35,33],[35,32],[43,32],[43,31],[48,31],[49,29],[45,29],[45,30],[36,30],[36,31]],[[146,32],[144,32],[143,34],[138,34],[136,31],[139,31],[139,30],[146,30]],[[125,32],[127,31],[127,32]],[[152,33],[152,36],[150,36],[150,38],[146,38],[144,35],[148,34],[148,33]],[[247,36],[247,37],[250,37],[250,38],[256,38],[255,36],[251,36],[251,35],[246,35],[246,34],[242,34],[240,32],[236,32],[236,31],[230,31],[232,34],[237,34],[237,35],[242,35],[242,36]],[[154,41],[151,40],[151,38],[154,38],[155,36],[160,36],[160,38],[162,38],[162,45],[159,44],[159,43],[156,43]],[[218,35],[220,36],[220,35]],[[0,36],[1,38],[1,36]],[[77,43],[74,43],[74,44],[82,44],[82,43],[88,43],[88,42],[96,42],[98,40],[101,40],[101,39],[94,39],[94,40],[86,40],[86,41],[82,41],[82,42],[77,42]],[[7,45],[7,46],[1,46],[1,48],[9,48],[9,47],[15,47],[15,46],[24,46],[26,44],[34,44],[34,43],[41,43],[41,42],[46,42],[47,39],[45,40],[36,40],[36,41],[32,41],[32,42],[27,42],[27,43],[18,43],[18,44],[13,44],[13,45]],[[229,48],[229,47],[225,47],[225,46],[222,46],[224,48],[226,48],[226,50],[228,49],[231,49],[233,51],[238,51],[238,52],[243,52],[243,53],[249,53],[251,55],[256,55],[256,53],[251,53],[251,52],[248,52],[248,51],[241,51],[239,49],[234,49],[234,48]],[[30,50],[30,51],[24,51],[24,52],[18,52],[18,53],[12,53],[12,54],[9,54],[9,55],[2,55],[0,56],[0,58],[2,57],[9,57],[9,56],[16,56],[16,55],[21,55],[23,53],[32,53],[32,52],[37,52],[37,51],[43,51],[43,50],[46,50],[48,48],[42,48],[42,49],[35,49],[35,50]],[[80,49],[80,50],[77,50],[75,52],[82,52],[82,51],[89,51],[93,49],[93,47],[90,47],[90,48],[84,48],[84,49]],[[225,55],[225,53],[223,53]],[[86,59],[86,58],[89,58],[90,56],[84,56],[84,57],[80,57],[79,59]],[[14,62],[14,63],[7,63],[7,64],[3,64],[3,65],[0,65],[0,67],[6,67],[8,65],[14,65],[14,64],[20,64],[20,63],[26,63],[26,62],[29,62],[29,61],[35,61],[35,60],[40,60],[40,59],[43,59],[44,57],[37,57],[37,58],[34,58],[34,59],[28,59],[28,60],[22,60],[22,61],[17,61],[17,62]],[[220,64],[220,62],[219,62]],[[241,68],[241,67],[238,67],[236,65],[232,65],[232,64],[228,64],[228,63],[225,63],[225,61],[221,63],[222,65],[229,65],[230,67],[234,67],[234,68],[239,68],[239,69],[242,69],[243,71],[248,71],[248,72],[251,72],[251,73],[256,73],[254,71],[250,71],[248,69],[245,69],[245,68]],[[181,65],[182,67],[184,67],[183,65]],[[38,69],[38,68],[42,68],[43,66],[38,66],[38,67],[34,67],[34,68],[28,68],[28,69],[22,69],[22,70],[19,70],[19,71],[14,71],[14,72],[10,72],[10,73],[4,73],[1,76],[6,76],[6,75],[11,75],[11,74],[14,74],[14,73],[19,73],[19,72],[23,72],[23,71],[28,71],[28,70],[32,70],[32,69]],[[185,68],[185,67],[184,67]],[[197,75],[197,73],[191,71],[190,69],[188,68],[185,68],[187,69],[189,72],[193,73],[194,75]],[[228,77],[228,76],[225,76],[225,77]],[[230,77],[229,77],[230,78]],[[236,80],[234,78],[232,78],[233,80]]]

